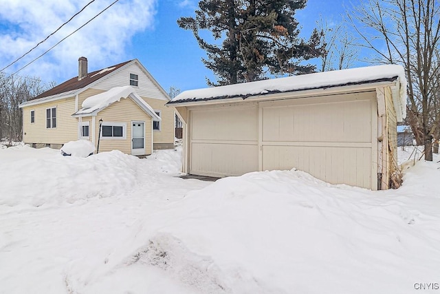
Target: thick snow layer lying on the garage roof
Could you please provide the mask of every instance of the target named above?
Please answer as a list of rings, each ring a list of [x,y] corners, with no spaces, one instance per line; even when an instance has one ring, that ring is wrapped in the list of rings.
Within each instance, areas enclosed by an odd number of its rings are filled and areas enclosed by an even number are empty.
[[[168,104],[208,101],[223,98],[249,98],[265,94],[297,92],[304,90],[323,89],[327,87],[342,87],[360,85],[380,81],[395,81],[400,83],[399,97],[395,105],[403,117],[406,116],[406,78],[404,67],[400,65],[377,65],[357,67],[348,70],[333,70],[331,72],[316,72],[300,76],[273,78],[270,80],[210,87],[182,92]]]

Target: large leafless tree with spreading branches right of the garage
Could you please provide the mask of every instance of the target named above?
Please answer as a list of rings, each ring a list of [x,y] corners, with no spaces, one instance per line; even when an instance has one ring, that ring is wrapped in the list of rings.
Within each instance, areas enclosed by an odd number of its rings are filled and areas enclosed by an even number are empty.
[[[436,0],[367,0],[348,14],[373,61],[401,64],[408,78],[408,122],[425,159],[439,138],[440,3]]]

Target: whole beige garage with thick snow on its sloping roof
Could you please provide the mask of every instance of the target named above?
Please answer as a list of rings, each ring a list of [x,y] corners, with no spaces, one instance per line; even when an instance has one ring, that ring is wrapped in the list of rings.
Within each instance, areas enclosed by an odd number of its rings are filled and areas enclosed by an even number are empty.
[[[398,187],[399,65],[361,67],[182,92],[186,174],[239,176],[296,168],[367,189]]]

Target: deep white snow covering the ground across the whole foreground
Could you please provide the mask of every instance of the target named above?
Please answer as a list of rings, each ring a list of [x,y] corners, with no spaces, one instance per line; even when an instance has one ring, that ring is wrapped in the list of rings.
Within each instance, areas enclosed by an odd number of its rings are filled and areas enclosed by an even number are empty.
[[[399,160],[411,151],[399,149]],[[440,285],[437,162],[417,162],[401,188],[373,192],[301,171],[183,180],[180,160],[180,149],[138,159],[0,148],[0,293],[417,293]]]

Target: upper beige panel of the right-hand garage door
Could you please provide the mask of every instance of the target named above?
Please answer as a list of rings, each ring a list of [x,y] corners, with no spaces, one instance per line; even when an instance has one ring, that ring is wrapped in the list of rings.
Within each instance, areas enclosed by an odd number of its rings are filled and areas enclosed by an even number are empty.
[[[310,100],[310,99],[308,99]],[[371,101],[263,107],[263,141],[370,142]],[[277,103],[274,103],[276,105]]]

